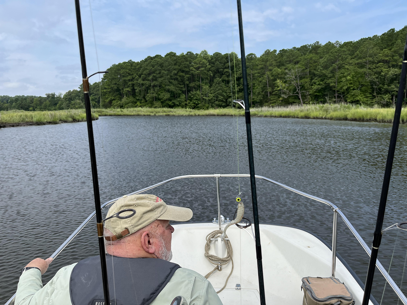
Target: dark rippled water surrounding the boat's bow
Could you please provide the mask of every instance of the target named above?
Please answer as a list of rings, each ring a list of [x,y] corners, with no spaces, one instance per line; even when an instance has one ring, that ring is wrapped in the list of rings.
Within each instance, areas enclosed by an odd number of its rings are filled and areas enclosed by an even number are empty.
[[[253,118],[256,174],[330,200],[371,244],[390,129],[379,123]],[[94,132],[102,202],[173,176],[237,172],[236,118],[101,117]],[[243,118],[239,136],[240,172],[248,173]],[[400,126],[385,226],[407,219],[406,136],[406,126]],[[0,152],[2,304],[15,292],[20,269],[53,253],[94,210],[94,201],[85,122],[0,129]],[[249,181],[240,182],[250,215]],[[228,217],[236,205],[237,183],[220,180],[222,214]],[[299,227],[331,242],[333,215],[327,206],[257,183],[261,222]],[[217,216],[215,179],[179,180],[152,193],[193,209],[191,221]],[[368,256],[341,220],[338,226],[338,253],[364,282]],[[379,252],[388,269],[394,249],[390,275],[399,286],[406,234],[389,231]],[[62,266],[97,253],[92,221],[51,264],[44,282]],[[406,278],[407,272],[403,291]],[[379,302],[383,286],[376,270],[373,294]],[[387,285],[383,304],[395,299]]]

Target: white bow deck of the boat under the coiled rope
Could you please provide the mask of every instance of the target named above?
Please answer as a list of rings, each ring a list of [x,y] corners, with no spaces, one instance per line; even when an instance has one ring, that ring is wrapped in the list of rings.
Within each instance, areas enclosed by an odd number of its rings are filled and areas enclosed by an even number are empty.
[[[177,224],[173,227],[172,261],[201,275],[210,272],[214,265],[204,256],[205,237],[217,230],[218,225]],[[252,230],[250,227],[239,229],[231,226],[227,235],[233,247],[234,270],[219,297],[224,305],[260,304]],[[304,293],[300,287],[303,277],[331,276],[332,252],[314,235],[292,227],[260,224],[260,239],[267,304],[302,304]],[[218,255],[215,253],[216,243],[217,241],[212,241],[210,253]],[[215,290],[223,287],[231,268],[232,264],[229,263],[223,266],[222,271],[215,271],[208,278]],[[335,277],[348,286],[356,304],[361,304],[363,290],[338,258]],[[236,290],[236,284],[241,285],[241,290]]]

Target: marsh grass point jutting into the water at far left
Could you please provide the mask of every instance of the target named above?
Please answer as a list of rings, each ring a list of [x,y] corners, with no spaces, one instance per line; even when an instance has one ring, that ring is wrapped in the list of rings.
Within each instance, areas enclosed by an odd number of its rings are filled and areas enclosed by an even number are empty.
[[[95,119],[98,119],[97,114],[95,114]],[[86,121],[86,114],[84,109],[58,111],[0,111],[0,126],[21,126],[24,124],[59,124],[82,121]]]

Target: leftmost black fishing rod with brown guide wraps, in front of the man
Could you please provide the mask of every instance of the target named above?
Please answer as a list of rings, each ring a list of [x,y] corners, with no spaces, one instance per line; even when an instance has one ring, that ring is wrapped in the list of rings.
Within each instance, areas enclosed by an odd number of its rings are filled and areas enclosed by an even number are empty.
[[[77,26],[78,26],[79,53],[81,55],[83,95],[85,98],[86,123],[88,125],[90,162],[92,165],[93,192],[94,192],[94,198],[95,198],[96,225],[97,225],[97,230],[98,230],[99,253],[100,253],[100,257],[101,257],[101,267],[102,267],[103,294],[105,296],[105,304],[110,304],[109,283],[107,280],[105,242],[103,240],[103,220],[102,220],[102,210],[101,210],[101,199],[100,199],[100,194],[99,194],[98,170],[96,167],[95,142],[94,142],[94,138],[93,138],[92,112],[90,109],[90,96],[89,96],[89,77],[92,75],[98,74],[98,73],[106,73],[107,71],[96,72],[90,76],[87,76],[88,73],[86,72],[85,47],[83,46],[81,7],[79,4],[79,0],[75,0],[75,9],[76,9]]]

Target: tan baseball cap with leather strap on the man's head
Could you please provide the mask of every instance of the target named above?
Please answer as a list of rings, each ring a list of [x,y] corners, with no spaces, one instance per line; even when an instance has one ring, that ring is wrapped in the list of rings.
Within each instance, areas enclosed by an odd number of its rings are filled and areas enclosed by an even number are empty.
[[[114,217],[106,220],[105,228],[114,234],[114,236],[106,236],[106,240],[119,240],[126,235],[137,232],[157,219],[188,221],[193,215],[191,209],[166,205],[161,198],[155,195],[138,194],[130,196],[125,195],[118,199],[110,207],[106,218],[123,209],[134,209],[136,210],[136,214],[126,219]],[[126,216],[131,213],[132,212],[125,212],[120,214],[120,216]]]

